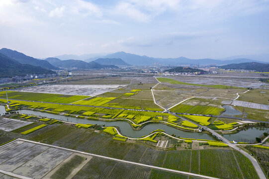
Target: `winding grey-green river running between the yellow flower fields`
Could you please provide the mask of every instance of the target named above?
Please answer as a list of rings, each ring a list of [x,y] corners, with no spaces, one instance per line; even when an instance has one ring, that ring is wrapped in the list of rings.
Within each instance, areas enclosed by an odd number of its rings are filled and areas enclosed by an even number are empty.
[[[98,124],[98,125],[105,125],[105,126],[118,126],[122,135],[132,138],[139,138],[145,135],[148,135],[154,130],[163,129],[168,134],[175,134],[177,137],[180,136],[182,138],[191,138],[191,139],[207,139],[207,140],[215,140],[209,134],[205,133],[197,133],[197,132],[185,132],[179,129],[167,126],[166,124],[161,123],[149,123],[144,126],[140,131],[135,131],[132,129],[130,124],[125,121],[113,121],[113,122],[106,122],[106,121],[98,121],[98,120],[89,120],[89,119],[81,119],[76,117],[69,117],[64,115],[56,115],[46,112],[39,112],[33,110],[18,110],[19,113],[28,114],[28,115],[36,115],[46,118],[52,118],[67,122],[73,123],[82,123],[82,124]],[[4,106],[0,105],[0,114],[5,113]],[[263,135],[264,132],[269,132],[268,128],[249,128],[244,131],[240,131],[236,134],[226,134],[223,135],[226,139],[233,141],[237,140],[239,142],[255,142],[256,137],[260,137]]]

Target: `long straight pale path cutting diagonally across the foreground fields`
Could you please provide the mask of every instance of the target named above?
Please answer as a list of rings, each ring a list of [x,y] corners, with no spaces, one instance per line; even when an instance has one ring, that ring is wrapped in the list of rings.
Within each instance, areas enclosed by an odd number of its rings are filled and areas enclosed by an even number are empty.
[[[24,142],[30,142],[30,143],[34,143],[34,144],[39,144],[39,145],[44,145],[44,146],[49,146],[49,147],[53,147],[53,148],[58,148],[58,149],[62,149],[62,150],[67,150],[67,151],[71,151],[71,152],[76,152],[76,153],[80,153],[80,154],[90,155],[90,156],[98,157],[98,158],[102,158],[102,159],[108,159],[108,160],[112,160],[112,161],[116,161],[116,162],[132,164],[132,165],[136,165],[136,166],[141,166],[141,167],[146,167],[146,168],[151,168],[151,169],[156,169],[156,170],[161,170],[161,171],[166,171],[166,172],[173,172],[173,173],[176,173],[176,174],[183,174],[183,175],[187,175],[187,176],[193,176],[193,177],[198,177],[198,178],[200,177],[200,178],[205,178],[205,179],[217,179],[217,178],[214,178],[214,177],[208,177],[208,176],[193,174],[193,173],[189,173],[189,172],[183,172],[183,171],[172,170],[172,169],[167,169],[167,168],[162,168],[162,167],[156,167],[156,166],[151,166],[151,165],[147,165],[147,164],[140,164],[140,163],[125,161],[125,160],[121,160],[121,159],[115,159],[115,158],[111,158],[111,157],[96,155],[96,154],[87,153],[87,152],[76,151],[76,150],[72,150],[72,149],[53,146],[53,145],[44,144],[44,143],[40,143],[40,142],[34,142],[34,141],[30,141],[30,140],[25,140],[25,139],[16,139],[14,141],[18,141],[18,140],[24,141]],[[12,141],[12,142],[14,142],[14,141]],[[5,146],[5,145],[3,145],[3,146]],[[5,171],[3,171],[3,172],[5,172]],[[16,175],[16,174],[14,174],[14,175]],[[29,178],[25,177],[23,179],[29,179]]]

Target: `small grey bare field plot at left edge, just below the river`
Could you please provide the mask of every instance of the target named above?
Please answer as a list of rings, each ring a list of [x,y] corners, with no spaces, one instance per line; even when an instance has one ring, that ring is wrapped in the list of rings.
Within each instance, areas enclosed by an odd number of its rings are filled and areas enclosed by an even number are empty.
[[[27,122],[9,118],[0,118],[0,130],[12,131],[31,123],[33,122]]]

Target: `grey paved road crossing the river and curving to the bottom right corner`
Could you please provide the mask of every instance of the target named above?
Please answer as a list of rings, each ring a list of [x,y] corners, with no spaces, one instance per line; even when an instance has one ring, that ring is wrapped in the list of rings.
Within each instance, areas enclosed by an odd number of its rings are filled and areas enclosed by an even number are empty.
[[[171,114],[173,114],[173,115],[175,115],[175,116],[177,116],[177,117],[179,117],[179,118],[181,118],[181,119],[183,119],[183,120],[187,120],[187,121],[189,121],[189,122],[194,123],[193,121],[190,121],[190,120],[188,120],[188,119],[185,119],[185,118],[183,118],[183,117],[181,117],[181,116],[179,116],[179,115],[177,115],[177,114],[175,114],[175,113],[171,113]],[[196,123],[194,123],[194,124],[196,124]],[[244,156],[246,156],[246,157],[251,161],[251,163],[253,164],[253,166],[254,166],[254,168],[255,168],[257,174],[259,175],[260,179],[267,179],[266,176],[265,176],[265,174],[264,174],[263,169],[261,168],[261,166],[259,165],[259,163],[257,162],[257,160],[256,160],[253,156],[251,156],[249,153],[247,153],[247,152],[245,152],[245,151],[239,149],[239,148],[236,146],[236,144],[230,143],[230,141],[228,141],[226,138],[224,138],[223,136],[221,136],[220,134],[218,134],[218,133],[215,132],[214,130],[209,129],[209,128],[206,127],[206,126],[202,126],[202,125],[200,125],[200,124],[196,124],[196,125],[198,125],[199,127],[202,127],[204,130],[207,130],[207,131],[210,132],[213,136],[216,136],[219,140],[222,140],[224,143],[226,143],[229,147],[231,147],[231,148],[237,150],[238,152],[240,152],[241,154],[243,154]]]

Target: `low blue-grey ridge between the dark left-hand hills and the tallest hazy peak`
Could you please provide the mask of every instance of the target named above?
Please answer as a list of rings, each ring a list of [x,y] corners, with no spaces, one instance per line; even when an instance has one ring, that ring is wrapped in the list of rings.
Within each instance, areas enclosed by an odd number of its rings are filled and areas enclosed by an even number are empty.
[[[45,60],[58,68],[79,68],[79,69],[118,68],[115,65],[101,65],[96,62],[87,63],[81,60],[60,60],[58,58],[47,58]]]

